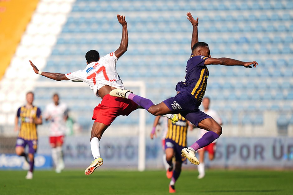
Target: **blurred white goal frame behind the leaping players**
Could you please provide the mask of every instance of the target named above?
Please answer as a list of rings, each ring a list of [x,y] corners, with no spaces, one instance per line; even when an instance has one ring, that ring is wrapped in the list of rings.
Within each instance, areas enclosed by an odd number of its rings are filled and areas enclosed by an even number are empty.
[[[124,86],[139,88],[139,95],[146,97],[146,85],[143,81],[123,81]],[[89,88],[84,82],[56,82],[56,81],[39,81],[35,83],[35,87],[38,88]],[[146,111],[139,109],[139,121],[138,121],[138,171],[144,171],[146,169]]]

